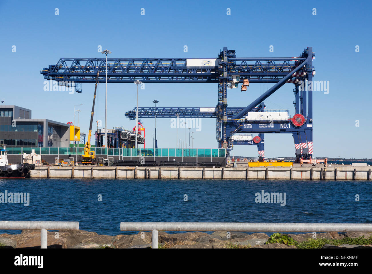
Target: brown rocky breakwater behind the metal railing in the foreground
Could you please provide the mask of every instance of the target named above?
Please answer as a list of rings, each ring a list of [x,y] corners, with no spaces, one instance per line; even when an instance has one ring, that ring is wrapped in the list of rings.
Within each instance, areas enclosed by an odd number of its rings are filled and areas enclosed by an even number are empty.
[[[277,242],[272,239],[265,233],[159,232],[159,248],[372,248],[372,233],[317,233],[316,239],[312,233],[280,234]],[[286,239],[295,244],[288,244]],[[40,248],[40,230],[0,234],[0,248]],[[151,248],[151,232],[109,236],[85,230],[60,230],[48,232],[48,248]]]

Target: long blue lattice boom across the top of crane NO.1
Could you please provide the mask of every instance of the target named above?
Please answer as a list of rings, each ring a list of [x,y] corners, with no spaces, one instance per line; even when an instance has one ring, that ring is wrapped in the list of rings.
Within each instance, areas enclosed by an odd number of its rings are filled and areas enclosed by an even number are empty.
[[[261,62],[263,59],[259,58],[251,64],[247,60],[234,61],[235,68],[229,67],[228,75],[241,73],[250,78],[251,83],[276,83],[295,69],[300,60],[276,59]],[[47,80],[93,83],[97,72],[100,72],[98,81],[105,82],[105,58],[60,58],[40,73]],[[191,67],[187,66],[186,58],[108,58],[107,75],[108,83],[132,83],[134,80],[144,83],[218,83],[219,79],[218,66]]]

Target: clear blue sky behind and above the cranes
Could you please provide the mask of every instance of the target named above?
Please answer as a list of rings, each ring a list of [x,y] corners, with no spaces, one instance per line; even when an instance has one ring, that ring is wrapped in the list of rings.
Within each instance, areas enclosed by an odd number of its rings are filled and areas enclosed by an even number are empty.
[[[1,1],[0,97],[30,108],[33,118],[65,123],[73,121],[74,105],[83,104],[79,123],[87,132],[94,84],[83,84],[82,94],[43,89],[40,70],[60,57],[102,57],[98,45],[112,51],[110,57],[200,58],[217,57],[223,47],[238,57],[295,57],[311,46],[314,80],[330,81],[329,94],[314,92],[314,156],[371,158],[370,13],[368,1]],[[270,86],[229,90],[228,105],[245,107]],[[293,115],[293,88],[285,84],[265,100],[267,108]],[[217,89],[217,84],[146,84],[140,106],[157,99],[158,106],[214,107]],[[108,85],[108,128],[134,127],[124,113],[135,107],[136,91],[131,84]],[[94,120],[105,119],[104,98],[100,84]],[[143,122],[152,147],[154,120]],[[176,146],[170,119],[158,119],[157,129],[159,147]],[[202,120],[194,137],[194,147],[217,147],[215,120]],[[254,157],[257,148],[236,146],[233,154]],[[294,156],[292,135],[266,134],[265,155]]]

